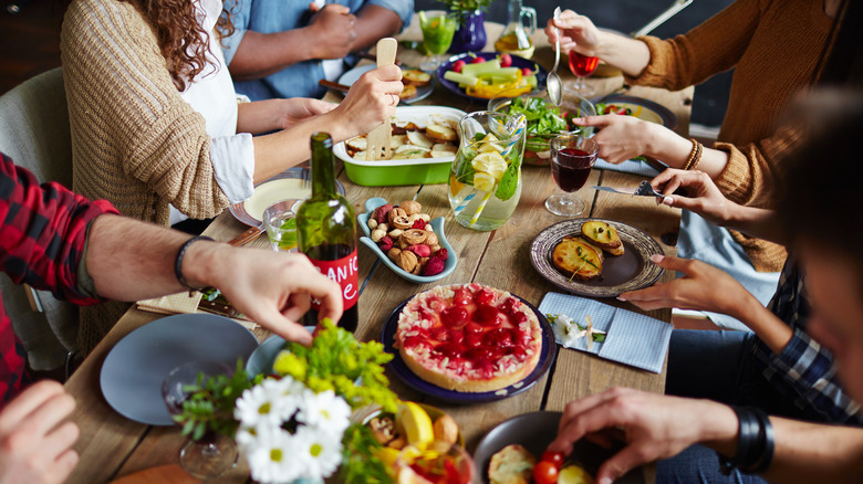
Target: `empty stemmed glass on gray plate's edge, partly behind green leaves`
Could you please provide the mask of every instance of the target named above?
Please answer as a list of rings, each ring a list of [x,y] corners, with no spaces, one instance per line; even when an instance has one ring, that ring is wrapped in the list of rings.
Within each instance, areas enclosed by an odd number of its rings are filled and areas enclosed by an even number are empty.
[[[190,396],[189,386],[200,383],[202,378],[230,375],[233,370],[216,361],[191,361],[174,368],[162,383],[162,397],[171,415],[183,411],[183,402]],[[215,478],[237,464],[240,452],[233,439],[208,430],[202,438],[189,439],[180,449],[180,466],[201,480]]]

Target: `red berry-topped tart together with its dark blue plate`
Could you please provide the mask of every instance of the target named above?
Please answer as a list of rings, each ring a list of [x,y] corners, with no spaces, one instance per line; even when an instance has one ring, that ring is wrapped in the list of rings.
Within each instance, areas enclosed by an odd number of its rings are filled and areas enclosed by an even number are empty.
[[[521,393],[554,361],[554,334],[530,303],[480,284],[434,287],[387,317],[389,368],[413,389],[450,403]]]

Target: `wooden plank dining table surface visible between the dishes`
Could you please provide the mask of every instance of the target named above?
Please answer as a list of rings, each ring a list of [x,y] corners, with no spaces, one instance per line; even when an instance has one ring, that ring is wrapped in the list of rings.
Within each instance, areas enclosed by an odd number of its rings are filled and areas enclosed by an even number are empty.
[[[489,45],[493,44],[500,28],[500,25],[489,27]],[[403,36],[418,39],[417,32],[418,29],[412,25]],[[538,44],[534,59],[543,66],[551,67],[553,57],[544,41],[544,34],[537,33],[534,41]],[[403,62],[418,64],[419,55],[414,51],[402,50],[398,56]],[[563,74],[565,82],[568,76],[572,76],[564,73],[564,70],[565,67],[561,70],[561,74]],[[606,92],[622,85],[620,76],[589,81]],[[685,136],[689,125],[692,92],[692,88],[669,93],[663,90],[636,87],[631,91],[631,94],[651,98],[668,107],[677,115],[678,131]],[[465,98],[453,96],[443,88],[436,90],[423,104],[449,105],[468,112],[485,108],[481,103],[471,103]],[[459,257],[456,271],[439,281],[439,284],[468,282],[488,284],[518,294],[534,305],[539,305],[547,292],[559,291],[533,270],[529,260],[529,246],[537,233],[545,227],[563,220],[549,213],[543,206],[545,198],[557,192],[558,188],[550,177],[548,167],[524,167],[522,175],[524,177],[523,190],[518,209],[506,225],[493,232],[477,232],[459,225],[449,209],[446,185],[426,186],[422,190],[417,201],[423,204],[424,211],[433,218],[445,217],[447,239]],[[340,180],[344,183],[347,198],[354,204],[357,213],[364,211],[363,203],[370,197],[384,197],[387,200],[398,202],[409,200],[417,191],[415,186],[358,187],[345,177],[344,170],[341,170]],[[633,175],[594,170],[588,185],[634,188],[641,180],[641,177]],[[656,206],[653,199],[622,197],[591,189],[582,189],[579,196],[589,204],[590,217],[618,220],[637,227],[659,241],[666,254],[675,253],[675,248],[663,241],[674,240],[679,223],[678,210]],[[217,240],[227,241],[245,229],[245,225],[226,211],[205,233]],[[268,242],[263,238],[256,241],[253,245],[267,248]],[[361,244],[361,281],[368,276],[374,262],[375,255]],[[670,274],[665,274],[664,278],[670,278]],[[430,284],[420,286],[406,283],[385,266],[378,266],[358,302],[357,337],[364,340],[379,338],[382,326],[389,313],[407,297],[432,286]],[[616,302],[616,299],[603,302],[635,309],[633,306]],[[667,309],[647,314],[666,322],[670,319],[670,311]],[[179,434],[178,429],[148,427],[121,417],[105,402],[98,386],[102,362],[111,348],[135,328],[159,317],[162,316],[137,309],[126,313],[66,383],[66,389],[79,402],[73,420],[81,428],[81,438],[75,445],[81,455],[81,462],[67,482],[87,484],[107,482],[137,471],[176,462],[179,448],[184,443],[184,438]],[[266,332],[260,330],[259,336],[266,336]],[[412,391],[393,375],[391,375],[391,380],[393,389],[403,399],[425,400],[423,394]],[[443,408],[458,421],[467,441],[467,448],[472,450],[488,430],[512,415],[541,409],[562,410],[570,400],[613,386],[626,386],[662,393],[664,383],[665,371],[655,375],[583,353],[562,350],[559,351],[551,371],[521,394],[492,403],[464,407],[440,404],[434,401],[430,403]],[[248,470],[241,464],[218,482],[245,482],[247,480]]]

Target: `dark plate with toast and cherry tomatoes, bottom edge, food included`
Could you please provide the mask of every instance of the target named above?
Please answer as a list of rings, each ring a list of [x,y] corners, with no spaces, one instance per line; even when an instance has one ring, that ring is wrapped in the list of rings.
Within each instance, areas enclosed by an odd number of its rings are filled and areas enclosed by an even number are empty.
[[[485,484],[540,482],[537,477],[543,478],[541,476],[533,477],[531,481],[534,471],[545,474],[549,465],[552,465],[560,469],[557,473],[558,483],[593,483],[593,476],[596,475],[600,465],[620,448],[603,449],[582,439],[573,444],[570,455],[545,453],[545,448],[558,435],[560,419],[561,412],[524,413],[491,429],[479,441],[474,452],[477,472],[481,476],[480,482]],[[542,462],[548,464],[541,464]],[[641,469],[635,469],[615,482],[643,484],[644,473]]]

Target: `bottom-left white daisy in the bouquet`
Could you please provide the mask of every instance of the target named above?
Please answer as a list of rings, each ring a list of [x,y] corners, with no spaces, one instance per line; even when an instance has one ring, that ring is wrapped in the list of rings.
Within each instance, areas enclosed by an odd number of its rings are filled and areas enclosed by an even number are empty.
[[[302,475],[298,465],[297,440],[279,428],[259,429],[258,439],[248,450],[251,476],[260,483],[292,482]]]

